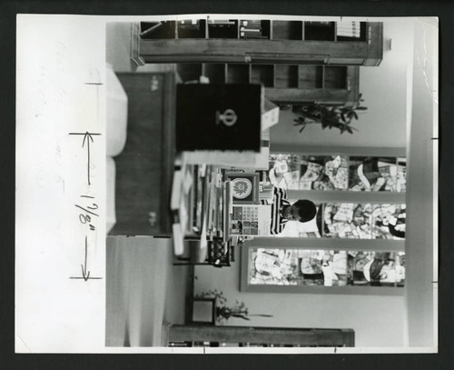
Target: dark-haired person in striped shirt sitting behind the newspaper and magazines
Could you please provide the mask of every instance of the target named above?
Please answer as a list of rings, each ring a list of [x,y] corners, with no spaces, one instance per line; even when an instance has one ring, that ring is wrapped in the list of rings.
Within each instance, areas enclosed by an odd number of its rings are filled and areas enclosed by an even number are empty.
[[[280,234],[288,221],[308,222],[317,214],[315,205],[307,199],[291,203],[286,199],[287,193],[281,187],[272,188],[272,199],[262,199],[262,204],[271,203],[271,235]]]

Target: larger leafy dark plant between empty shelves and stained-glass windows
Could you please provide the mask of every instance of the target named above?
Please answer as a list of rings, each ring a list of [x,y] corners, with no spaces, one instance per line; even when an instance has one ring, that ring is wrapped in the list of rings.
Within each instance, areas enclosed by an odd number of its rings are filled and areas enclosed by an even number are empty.
[[[366,106],[360,106],[364,100],[359,96],[354,105],[321,105],[319,103],[293,105],[292,112],[297,115],[293,121],[295,126],[300,126],[300,133],[307,125],[321,125],[321,129],[337,128],[341,134],[358,131],[350,124],[358,119],[358,112],[367,110]]]

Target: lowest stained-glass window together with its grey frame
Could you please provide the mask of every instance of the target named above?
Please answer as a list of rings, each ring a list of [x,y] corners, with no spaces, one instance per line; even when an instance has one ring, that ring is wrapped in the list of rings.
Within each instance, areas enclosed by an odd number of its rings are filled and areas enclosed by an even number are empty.
[[[403,242],[258,237],[242,245],[242,292],[403,295]]]

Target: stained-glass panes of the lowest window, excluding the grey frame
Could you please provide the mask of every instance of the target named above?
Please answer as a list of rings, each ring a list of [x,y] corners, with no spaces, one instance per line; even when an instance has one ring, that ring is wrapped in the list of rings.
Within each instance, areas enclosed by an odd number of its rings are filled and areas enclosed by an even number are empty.
[[[403,287],[405,253],[246,246],[246,286]],[[253,290],[253,289],[252,289]],[[273,290],[275,291],[275,290]],[[311,290],[306,290],[310,292]]]

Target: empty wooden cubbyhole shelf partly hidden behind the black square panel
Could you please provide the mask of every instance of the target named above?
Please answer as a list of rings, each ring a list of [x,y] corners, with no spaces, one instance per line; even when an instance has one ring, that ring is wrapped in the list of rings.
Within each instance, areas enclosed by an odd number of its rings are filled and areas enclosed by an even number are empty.
[[[189,63],[177,65],[183,82],[201,75],[212,84],[262,84],[274,103],[346,104],[358,100],[359,67],[355,65],[255,65]]]

